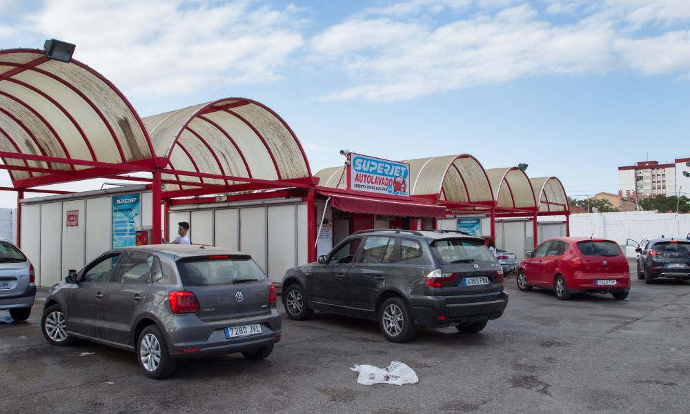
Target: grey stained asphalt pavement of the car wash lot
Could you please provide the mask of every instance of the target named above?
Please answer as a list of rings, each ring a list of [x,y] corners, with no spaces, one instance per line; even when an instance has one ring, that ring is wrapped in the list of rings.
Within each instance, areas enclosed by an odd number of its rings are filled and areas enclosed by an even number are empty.
[[[0,311],[0,413],[689,413],[690,283],[645,285],[628,299],[511,294],[482,333],[420,331],[387,342],[375,322],[315,313],[284,316],[267,359],[182,361],[149,380],[133,353],[88,342],[50,346],[42,303],[26,323]],[[84,355],[83,353],[95,353]],[[413,385],[357,384],[354,364],[411,366]]]

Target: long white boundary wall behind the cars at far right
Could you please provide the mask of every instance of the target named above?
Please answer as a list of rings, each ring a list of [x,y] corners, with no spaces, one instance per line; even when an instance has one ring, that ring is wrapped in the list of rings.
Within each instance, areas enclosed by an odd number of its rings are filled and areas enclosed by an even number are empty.
[[[542,217],[540,221],[549,221]],[[571,236],[605,237],[618,244],[627,239],[639,242],[654,237],[682,237],[690,232],[689,214],[627,211],[623,213],[573,214],[570,216]]]

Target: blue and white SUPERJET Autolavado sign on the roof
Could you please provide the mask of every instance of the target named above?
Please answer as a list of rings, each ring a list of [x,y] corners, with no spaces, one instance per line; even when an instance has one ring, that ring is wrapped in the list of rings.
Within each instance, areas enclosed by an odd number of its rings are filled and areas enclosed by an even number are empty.
[[[351,154],[350,189],[369,193],[410,195],[410,166]]]

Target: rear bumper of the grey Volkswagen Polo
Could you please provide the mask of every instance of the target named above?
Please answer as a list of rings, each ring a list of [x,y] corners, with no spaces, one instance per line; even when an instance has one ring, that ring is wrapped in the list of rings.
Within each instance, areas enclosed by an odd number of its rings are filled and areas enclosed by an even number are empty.
[[[225,328],[261,324],[262,333],[227,339]],[[250,351],[280,340],[282,322],[276,308],[270,314],[242,319],[204,322],[197,315],[174,315],[166,324],[170,356],[175,358],[206,357]]]

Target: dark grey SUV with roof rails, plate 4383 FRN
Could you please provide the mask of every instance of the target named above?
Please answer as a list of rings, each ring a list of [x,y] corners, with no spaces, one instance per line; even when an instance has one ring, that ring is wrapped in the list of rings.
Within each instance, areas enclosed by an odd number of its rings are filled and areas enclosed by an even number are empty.
[[[462,233],[362,230],[331,253],[288,270],[282,300],[292,319],[313,310],[379,322],[391,342],[417,326],[477,333],[503,314],[503,270],[484,240]]]

